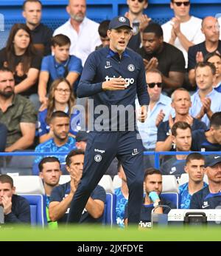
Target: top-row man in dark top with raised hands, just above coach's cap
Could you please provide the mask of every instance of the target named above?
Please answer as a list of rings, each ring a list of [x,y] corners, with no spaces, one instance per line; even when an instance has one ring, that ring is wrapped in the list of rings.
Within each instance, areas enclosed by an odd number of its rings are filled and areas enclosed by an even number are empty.
[[[147,0],[127,0],[128,11],[124,16],[130,19],[130,24],[133,27],[133,36],[127,47],[132,50],[137,50],[141,45],[141,32],[149,24],[151,18],[144,14],[144,10],[148,7]]]

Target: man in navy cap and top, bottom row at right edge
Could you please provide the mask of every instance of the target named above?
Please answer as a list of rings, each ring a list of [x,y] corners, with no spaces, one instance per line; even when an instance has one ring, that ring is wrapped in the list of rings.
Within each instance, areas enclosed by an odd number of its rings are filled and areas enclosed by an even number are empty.
[[[190,209],[215,209],[221,206],[221,155],[208,155],[205,166],[208,186],[192,195]]]

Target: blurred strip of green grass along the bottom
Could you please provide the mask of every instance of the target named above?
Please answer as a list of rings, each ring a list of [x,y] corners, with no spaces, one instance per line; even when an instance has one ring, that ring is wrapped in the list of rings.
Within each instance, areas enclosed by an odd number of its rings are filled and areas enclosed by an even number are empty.
[[[69,226],[59,229],[1,226],[1,241],[220,241],[221,226],[119,229]]]

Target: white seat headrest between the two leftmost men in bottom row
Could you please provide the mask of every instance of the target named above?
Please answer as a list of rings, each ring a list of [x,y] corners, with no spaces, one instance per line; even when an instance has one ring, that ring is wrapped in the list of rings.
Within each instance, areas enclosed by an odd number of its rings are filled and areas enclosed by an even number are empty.
[[[16,194],[45,195],[43,182],[38,176],[13,176]]]

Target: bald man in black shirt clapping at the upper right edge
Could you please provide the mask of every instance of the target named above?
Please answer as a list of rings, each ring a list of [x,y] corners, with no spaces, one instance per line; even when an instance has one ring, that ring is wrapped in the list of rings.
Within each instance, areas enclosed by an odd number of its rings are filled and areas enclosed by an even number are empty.
[[[192,85],[196,84],[194,70],[196,64],[198,62],[205,61],[205,57],[208,55],[208,53],[221,53],[221,41],[219,40],[220,26],[217,18],[212,16],[203,18],[201,30],[205,35],[205,41],[189,47],[188,50],[189,81]]]

